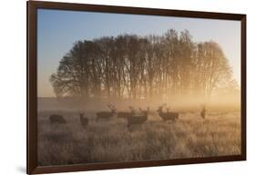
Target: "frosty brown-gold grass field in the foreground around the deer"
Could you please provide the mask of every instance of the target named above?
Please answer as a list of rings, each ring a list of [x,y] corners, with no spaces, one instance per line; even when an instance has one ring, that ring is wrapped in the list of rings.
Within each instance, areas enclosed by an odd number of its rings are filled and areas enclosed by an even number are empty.
[[[51,124],[59,113],[67,124]],[[156,112],[130,129],[113,117],[97,122],[87,112],[84,128],[77,112],[38,113],[38,165],[66,165],[134,160],[172,160],[241,154],[240,112],[183,112],[177,122],[163,122]]]

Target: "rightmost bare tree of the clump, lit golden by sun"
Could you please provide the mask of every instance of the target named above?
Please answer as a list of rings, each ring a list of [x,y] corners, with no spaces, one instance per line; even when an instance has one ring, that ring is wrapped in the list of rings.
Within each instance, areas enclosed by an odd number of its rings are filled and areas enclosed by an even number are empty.
[[[220,88],[222,84],[231,80],[231,68],[228,59],[222,52],[220,45],[214,42],[198,44],[195,81],[199,92],[205,96]]]

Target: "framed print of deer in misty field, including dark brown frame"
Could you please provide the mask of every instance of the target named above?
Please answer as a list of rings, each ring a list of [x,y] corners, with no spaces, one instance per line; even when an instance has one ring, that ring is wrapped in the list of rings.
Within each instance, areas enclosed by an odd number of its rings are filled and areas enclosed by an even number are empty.
[[[27,2],[27,173],[246,160],[246,15]]]

